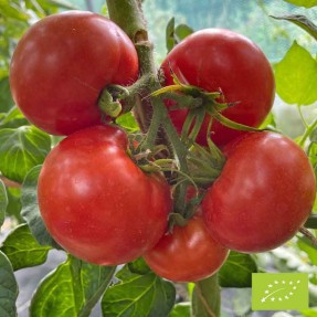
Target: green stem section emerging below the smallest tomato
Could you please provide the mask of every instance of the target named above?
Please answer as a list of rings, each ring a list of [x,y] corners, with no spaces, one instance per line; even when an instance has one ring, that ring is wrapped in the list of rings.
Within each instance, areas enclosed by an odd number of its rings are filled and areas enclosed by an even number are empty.
[[[192,315],[196,317],[220,316],[220,300],[216,274],[197,282],[192,292]]]

